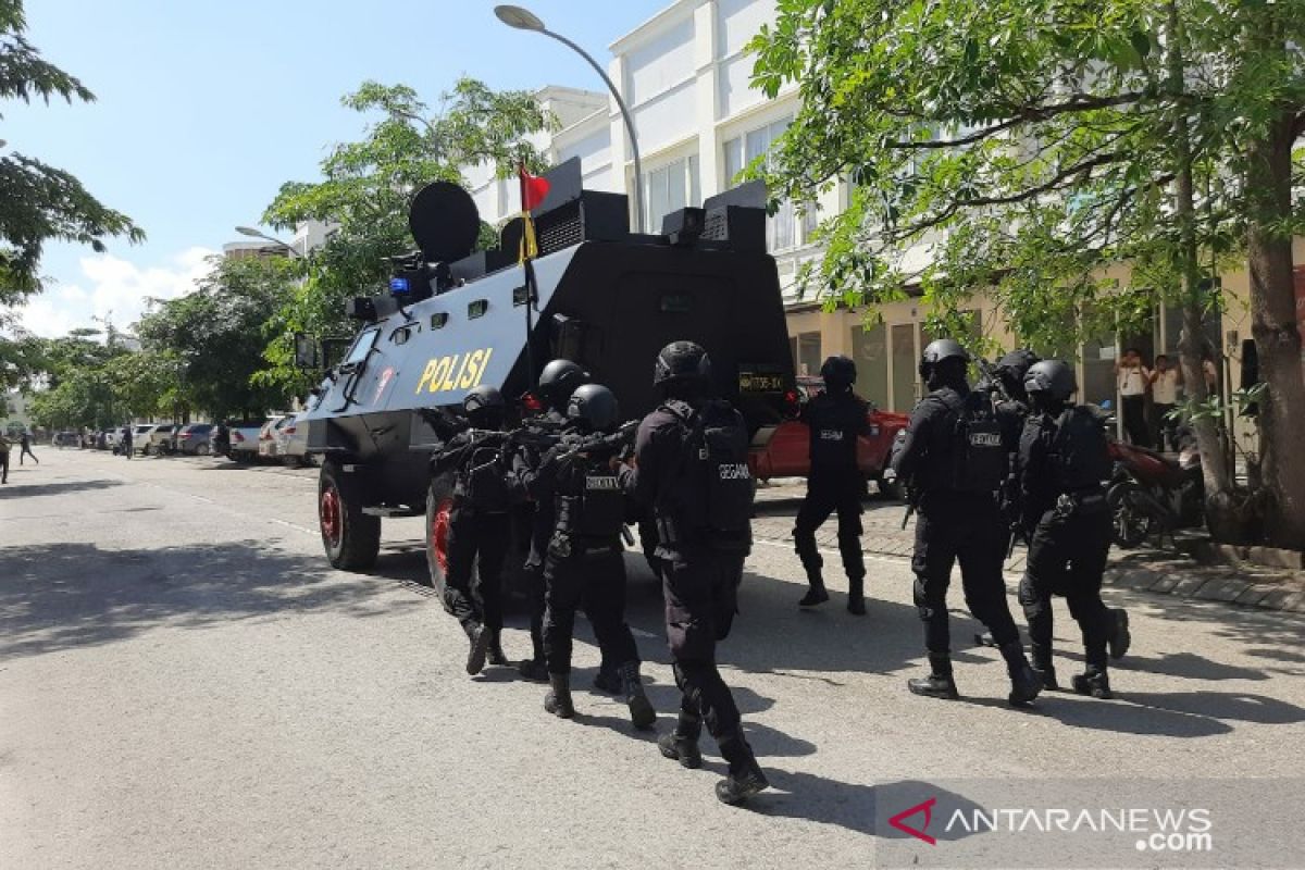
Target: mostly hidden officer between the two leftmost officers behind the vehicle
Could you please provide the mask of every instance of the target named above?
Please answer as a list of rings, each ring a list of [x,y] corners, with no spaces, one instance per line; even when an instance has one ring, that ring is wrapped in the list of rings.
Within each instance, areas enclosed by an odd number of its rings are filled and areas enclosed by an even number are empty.
[[[544,407],[538,415],[523,423],[529,437],[522,442],[513,460],[513,468],[518,477],[534,473],[544,451],[557,442],[568,425],[566,403],[570,400],[572,393],[587,382],[589,373],[570,360],[556,359],[544,365],[536,387]],[[527,680],[540,682],[548,680],[543,635],[544,558],[548,553],[548,540],[553,535],[553,526],[552,502],[548,500],[535,501],[534,513],[530,514],[530,554],[522,567],[530,596],[530,642],[534,653],[518,665],[518,670]],[[602,677],[603,672],[600,670],[599,674]],[[611,674],[611,681],[619,689],[615,672]]]

